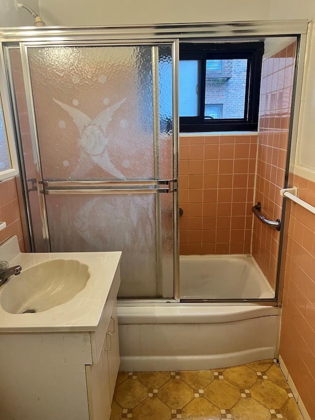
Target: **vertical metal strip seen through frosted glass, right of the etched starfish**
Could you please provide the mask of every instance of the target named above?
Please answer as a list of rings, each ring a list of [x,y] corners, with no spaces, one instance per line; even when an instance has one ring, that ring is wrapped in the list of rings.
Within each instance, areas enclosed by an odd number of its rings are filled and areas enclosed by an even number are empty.
[[[159,179],[159,80],[158,80],[158,46],[151,47],[152,57],[152,99],[153,99],[153,147],[154,147],[154,179]],[[161,198],[155,196],[156,211],[156,278],[157,296],[163,297],[163,271],[162,271],[162,233],[161,233]]]

